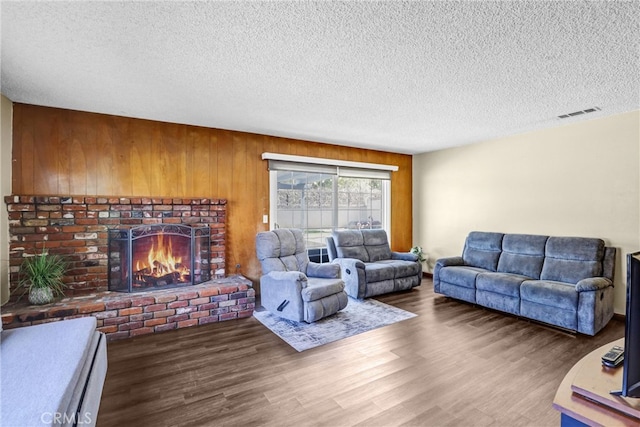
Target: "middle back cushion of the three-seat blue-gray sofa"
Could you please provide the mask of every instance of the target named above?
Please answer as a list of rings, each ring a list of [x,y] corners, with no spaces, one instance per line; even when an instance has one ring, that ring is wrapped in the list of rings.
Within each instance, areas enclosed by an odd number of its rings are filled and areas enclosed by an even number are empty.
[[[498,271],[539,279],[548,238],[533,234],[505,234]]]

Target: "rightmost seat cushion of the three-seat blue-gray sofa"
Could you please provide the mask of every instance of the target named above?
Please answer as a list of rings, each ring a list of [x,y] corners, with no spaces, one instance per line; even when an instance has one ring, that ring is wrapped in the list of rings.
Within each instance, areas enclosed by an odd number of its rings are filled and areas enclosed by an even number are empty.
[[[579,294],[575,285],[550,280],[525,280],[520,285],[520,298],[523,301],[541,305],[576,310]]]

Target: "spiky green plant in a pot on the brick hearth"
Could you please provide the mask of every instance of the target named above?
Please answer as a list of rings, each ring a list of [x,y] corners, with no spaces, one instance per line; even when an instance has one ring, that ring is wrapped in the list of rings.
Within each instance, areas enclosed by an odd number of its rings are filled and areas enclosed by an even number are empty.
[[[56,296],[64,295],[62,276],[67,263],[60,255],[42,253],[26,258],[20,266],[19,287],[29,293],[31,304],[48,304]],[[24,294],[23,294],[24,295]]]

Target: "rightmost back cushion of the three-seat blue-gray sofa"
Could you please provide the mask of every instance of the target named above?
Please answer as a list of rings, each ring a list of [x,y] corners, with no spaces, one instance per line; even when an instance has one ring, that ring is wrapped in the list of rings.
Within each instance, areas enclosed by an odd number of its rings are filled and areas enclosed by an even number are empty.
[[[604,241],[588,237],[549,237],[545,248],[542,280],[578,283],[602,276]]]

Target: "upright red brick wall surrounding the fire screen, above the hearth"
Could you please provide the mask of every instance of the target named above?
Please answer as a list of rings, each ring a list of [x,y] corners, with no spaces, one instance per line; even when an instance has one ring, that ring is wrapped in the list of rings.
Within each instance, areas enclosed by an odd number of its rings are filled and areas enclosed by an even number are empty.
[[[9,265],[12,299],[25,256],[43,248],[65,257],[68,296],[105,291],[107,230],[142,224],[208,224],[211,277],[225,275],[224,199],[8,196]]]

